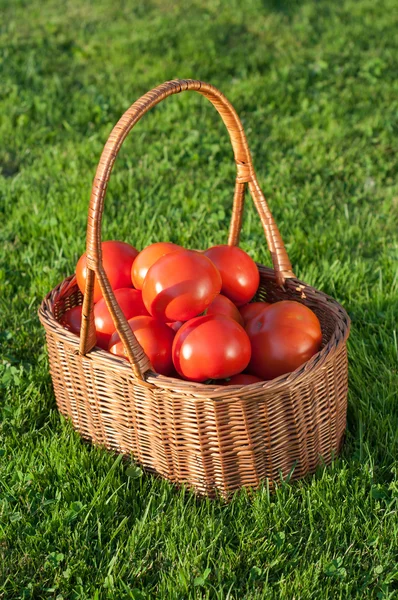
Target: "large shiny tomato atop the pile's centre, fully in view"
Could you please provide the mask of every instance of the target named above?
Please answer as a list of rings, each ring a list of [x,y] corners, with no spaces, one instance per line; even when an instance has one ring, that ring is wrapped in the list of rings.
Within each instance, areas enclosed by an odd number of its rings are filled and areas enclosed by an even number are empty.
[[[221,289],[213,263],[194,250],[166,254],[149,269],[142,297],[148,312],[161,321],[188,321],[205,310]]]

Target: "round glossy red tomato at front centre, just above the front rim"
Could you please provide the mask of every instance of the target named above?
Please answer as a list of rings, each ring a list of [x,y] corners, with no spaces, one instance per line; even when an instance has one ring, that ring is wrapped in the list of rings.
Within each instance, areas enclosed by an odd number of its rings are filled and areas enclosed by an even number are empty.
[[[245,330],[224,315],[191,319],[174,339],[174,366],[190,381],[231,377],[243,371],[249,360],[250,341]]]

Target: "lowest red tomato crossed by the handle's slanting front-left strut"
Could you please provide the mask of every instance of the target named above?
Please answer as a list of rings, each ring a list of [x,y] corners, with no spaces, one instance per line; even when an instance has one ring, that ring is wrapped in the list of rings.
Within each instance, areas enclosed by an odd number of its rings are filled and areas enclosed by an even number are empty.
[[[171,349],[174,340],[174,331],[157,321],[153,317],[134,317],[129,320],[131,331],[134,333],[140,346],[152,363],[156,373],[169,375],[173,372]],[[109,352],[118,356],[126,356],[123,343],[117,331],[112,334],[109,341]]]

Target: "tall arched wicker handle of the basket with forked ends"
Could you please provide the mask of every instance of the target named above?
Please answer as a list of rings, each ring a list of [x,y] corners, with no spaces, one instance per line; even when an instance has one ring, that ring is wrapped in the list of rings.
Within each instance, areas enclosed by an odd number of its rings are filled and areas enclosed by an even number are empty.
[[[128,326],[127,320],[115,300],[102,265],[101,221],[104,199],[113,164],[130,130],[149,109],[161,100],[183,91],[196,91],[210,100],[224,121],[231,138],[237,175],[228,244],[237,245],[239,242],[244,194],[246,184],[248,184],[265,232],[277,283],[283,285],[286,278],[294,277],[278,227],[258,185],[242,123],[225,96],[212,85],[193,79],[168,81],[142,96],[124,113],[113,128],[102,151],[94,177],[87,221],[87,278],[79,348],[81,354],[87,354],[96,344],[93,303],[94,277],[96,276],[116,330],[126,349],[134,376],[141,380],[144,378],[144,373],[151,368],[149,359]]]

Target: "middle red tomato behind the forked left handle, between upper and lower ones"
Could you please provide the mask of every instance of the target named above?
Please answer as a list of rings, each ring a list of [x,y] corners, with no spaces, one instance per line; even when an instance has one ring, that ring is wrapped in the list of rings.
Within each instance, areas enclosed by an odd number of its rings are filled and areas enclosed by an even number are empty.
[[[142,301],[142,292],[132,288],[119,288],[114,291],[119,307],[127,320],[139,315],[147,315],[148,311]],[[111,314],[101,298],[94,306],[95,330],[97,333],[97,346],[108,350],[109,340],[115,331]]]

